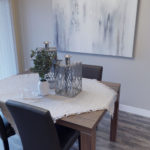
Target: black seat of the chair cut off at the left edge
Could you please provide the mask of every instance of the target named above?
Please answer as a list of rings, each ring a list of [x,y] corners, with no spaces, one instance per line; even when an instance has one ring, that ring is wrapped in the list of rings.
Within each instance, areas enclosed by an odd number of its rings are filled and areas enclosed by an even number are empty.
[[[3,123],[4,123],[4,126],[5,126],[5,131],[6,131],[6,136],[9,137],[9,136],[12,136],[15,134],[15,131],[14,129],[12,128],[11,124],[6,120],[6,118],[4,117],[4,115],[2,114],[2,112],[0,112],[0,115],[2,117],[2,120],[3,120]]]

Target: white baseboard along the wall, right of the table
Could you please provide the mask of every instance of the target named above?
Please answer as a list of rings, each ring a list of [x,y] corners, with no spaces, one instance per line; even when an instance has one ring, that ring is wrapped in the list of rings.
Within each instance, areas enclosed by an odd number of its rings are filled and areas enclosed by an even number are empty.
[[[119,110],[150,118],[150,110],[127,106],[127,105],[122,105],[122,104],[119,105]]]

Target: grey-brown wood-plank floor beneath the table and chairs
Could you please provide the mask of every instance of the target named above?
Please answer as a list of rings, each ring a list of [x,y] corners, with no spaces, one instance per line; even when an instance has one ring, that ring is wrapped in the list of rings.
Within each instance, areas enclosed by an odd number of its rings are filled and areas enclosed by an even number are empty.
[[[96,150],[150,150],[150,118],[119,112],[118,136],[109,141],[110,116],[106,114],[97,127]],[[23,150],[20,138],[9,138],[10,150]],[[0,140],[0,150],[4,150]],[[71,150],[78,150],[76,142]]]

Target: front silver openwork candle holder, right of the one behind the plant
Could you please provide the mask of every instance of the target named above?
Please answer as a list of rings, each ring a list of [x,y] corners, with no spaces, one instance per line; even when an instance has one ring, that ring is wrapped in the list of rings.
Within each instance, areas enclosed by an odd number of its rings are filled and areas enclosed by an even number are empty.
[[[65,63],[56,68],[56,88],[58,95],[74,97],[82,90],[82,63],[70,63],[66,57]]]

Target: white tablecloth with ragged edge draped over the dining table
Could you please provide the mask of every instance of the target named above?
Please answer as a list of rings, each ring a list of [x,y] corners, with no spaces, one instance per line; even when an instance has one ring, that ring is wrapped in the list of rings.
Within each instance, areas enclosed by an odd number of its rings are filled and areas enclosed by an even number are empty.
[[[73,98],[58,95],[40,97],[37,92],[38,81],[37,74],[17,75],[0,80],[0,107],[10,122],[12,119],[5,106],[8,99],[47,109],[54,121],[63,116],[103,109],[113,114],[117,93],[97,80],[83,78],[83,90]]]

